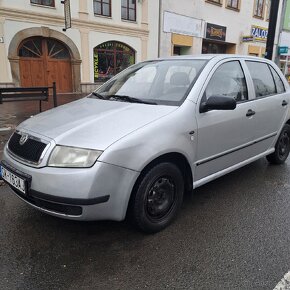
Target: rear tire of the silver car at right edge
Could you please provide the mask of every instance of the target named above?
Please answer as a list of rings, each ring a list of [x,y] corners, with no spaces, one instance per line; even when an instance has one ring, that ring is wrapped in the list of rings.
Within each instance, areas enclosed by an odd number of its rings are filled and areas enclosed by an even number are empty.
[[[275,145],[275,151],[266,156],[271,164],[282,164],[286,161],[290,151],[290,126],[284,125]]]

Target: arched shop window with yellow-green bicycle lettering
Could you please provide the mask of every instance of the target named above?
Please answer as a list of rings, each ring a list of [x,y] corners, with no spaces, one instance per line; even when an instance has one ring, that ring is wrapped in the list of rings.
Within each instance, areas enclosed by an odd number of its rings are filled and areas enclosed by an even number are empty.
[[[128,45],[104,42],[94,48],[94,79],[105,81],[135,63],[135,51]]]

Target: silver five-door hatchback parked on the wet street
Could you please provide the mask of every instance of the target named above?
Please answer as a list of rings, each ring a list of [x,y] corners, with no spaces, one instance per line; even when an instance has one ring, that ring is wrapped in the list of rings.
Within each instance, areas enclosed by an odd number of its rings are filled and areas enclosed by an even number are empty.
[[[33,207],[146,232],[176,217],[185,191],[289,154],[289,88],[268,60],[175,57],[129,67],[89,96],[20,124],[3,179]]]

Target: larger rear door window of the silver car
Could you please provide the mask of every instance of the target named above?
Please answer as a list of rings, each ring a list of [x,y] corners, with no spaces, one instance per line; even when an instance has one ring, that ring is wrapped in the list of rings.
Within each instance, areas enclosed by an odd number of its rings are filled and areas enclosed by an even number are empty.
[[[267,63],[246,61],[253,79],[256,98],[266,97],[276,93],[276,86]]]

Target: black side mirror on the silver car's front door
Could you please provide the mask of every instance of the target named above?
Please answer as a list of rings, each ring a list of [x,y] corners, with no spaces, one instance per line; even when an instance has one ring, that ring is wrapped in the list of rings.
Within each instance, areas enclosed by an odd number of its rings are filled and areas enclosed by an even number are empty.
[[[235,99],[225,97],[222,95],[214,95],[209,97],[205,102],[200,105],[200,113],[210,110],[234,110],[237,106]]]

